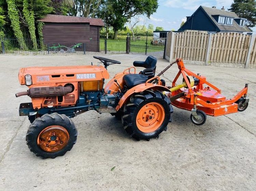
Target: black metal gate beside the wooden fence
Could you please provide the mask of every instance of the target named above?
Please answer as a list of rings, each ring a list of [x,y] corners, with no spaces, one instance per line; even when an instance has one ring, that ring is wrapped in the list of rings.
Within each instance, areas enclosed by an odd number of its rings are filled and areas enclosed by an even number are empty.
[[[130,35],[130,53],[145,54],[152,56],[165,56],[166,34],[159,33],[140,33]]]

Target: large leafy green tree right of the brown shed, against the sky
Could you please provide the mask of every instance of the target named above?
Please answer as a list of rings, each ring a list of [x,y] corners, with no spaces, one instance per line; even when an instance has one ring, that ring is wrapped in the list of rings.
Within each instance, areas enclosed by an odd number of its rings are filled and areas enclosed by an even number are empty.
[[[113,27],[114,39],[117,39],[118,30],[122,30],[132,17],[143,14],[150,17],[157,8],[157,0],[104,0],[100,6],[99,17]]]

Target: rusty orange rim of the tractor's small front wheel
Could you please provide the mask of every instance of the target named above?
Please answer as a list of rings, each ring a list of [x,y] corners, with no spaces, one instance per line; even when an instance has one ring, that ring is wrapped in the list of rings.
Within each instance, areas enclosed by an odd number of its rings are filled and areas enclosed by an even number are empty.
[[[48,153],[63,149],[69,142],[69,133],[66,128],[58,125],[48,126],[40,132],[37,144]]]

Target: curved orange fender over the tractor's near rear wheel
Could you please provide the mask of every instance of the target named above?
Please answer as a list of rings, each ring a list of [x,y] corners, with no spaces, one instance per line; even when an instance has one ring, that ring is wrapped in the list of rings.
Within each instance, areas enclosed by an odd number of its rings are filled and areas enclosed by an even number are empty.
[[[133,88],[129,89],[123,97],[120,99],[118,105],[116,106],[116,110],[118,111],[121,107],[123,107],[130,99],[130,97],[135,94],[135,93],[140,93],[148,89],[153,89],[153,90],[159,90],[159,91],[169,91],[165,86],[157,85],[157,84],[152,84],[152,83],[144,83],[144,84],[139,84],[137,86],[134,86]]]

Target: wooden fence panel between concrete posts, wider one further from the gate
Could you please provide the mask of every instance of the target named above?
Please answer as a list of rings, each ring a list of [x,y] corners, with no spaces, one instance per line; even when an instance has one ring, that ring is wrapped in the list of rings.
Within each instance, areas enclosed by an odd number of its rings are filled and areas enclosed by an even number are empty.
[[[242,33],[213,34],[210,51],[211,62],[245,64],[250,40],[250,35]],[[253,58],[251,59],[253,60]]]

